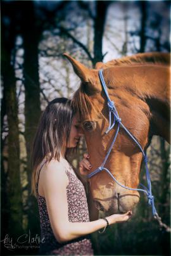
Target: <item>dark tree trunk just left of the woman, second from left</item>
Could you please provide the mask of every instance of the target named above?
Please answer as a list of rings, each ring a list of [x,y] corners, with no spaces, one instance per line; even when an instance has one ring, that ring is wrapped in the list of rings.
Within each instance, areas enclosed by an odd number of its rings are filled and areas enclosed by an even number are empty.
[[[21,3],[21,2],[20,2]],[[23,75],[25,77],[25,142],[27,149],[27,177],[28,177],[28,228],[32,233],[39,229],[39,215],[35,196],[31,195],[31,149],[39,117],[41,115],[40,85],[39,85],[39,39],[41,31],[37,27],[34,13],[34,3],[21,3],[23,15],[22,36],[24,47]]]

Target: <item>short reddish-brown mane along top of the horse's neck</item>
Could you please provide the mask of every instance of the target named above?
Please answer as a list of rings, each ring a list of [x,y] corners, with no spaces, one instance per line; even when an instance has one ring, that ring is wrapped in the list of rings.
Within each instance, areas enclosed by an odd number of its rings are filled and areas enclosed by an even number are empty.
[[[127,65],[141,65],[145,63],[155,65],[170,65],[170,54],[169,53],[138,53],[132,56],[125,56],[115,60],[108,61],[106,63],[96,63],[96,69],[98,68],[109,68],[113,66],[127,66]]]

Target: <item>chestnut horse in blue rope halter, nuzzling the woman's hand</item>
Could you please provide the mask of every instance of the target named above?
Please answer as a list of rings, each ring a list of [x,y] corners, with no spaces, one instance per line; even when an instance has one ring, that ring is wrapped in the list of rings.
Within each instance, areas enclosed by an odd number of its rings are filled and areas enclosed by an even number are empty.
[[[115,102],[122,123],[141,144],[144,151],[153,135],[170,142],[170,55],[142,53],[108,63],[97,63],[89,69],[68,54],[81,84],[73,96],[80,111],[92,171],[105,159],[113,141],[116,127],[108,128],[108,106],[99,80],[99,68]],[[143,155],[137,145],[121,128],[105,167],[129,188],[137,188]],[[118,186],[105,172],[89,179],[91,195],[96,207],[108,214],[126,212],[139,202],[139,193]]]

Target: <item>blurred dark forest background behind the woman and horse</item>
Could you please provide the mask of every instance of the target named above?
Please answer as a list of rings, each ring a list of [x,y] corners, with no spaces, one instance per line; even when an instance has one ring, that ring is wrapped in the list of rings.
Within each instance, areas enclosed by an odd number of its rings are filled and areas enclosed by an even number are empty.
[[[170,52],[169,38],[170,1],[1,1],[2,255],[37,253],[40,227],[37,202],[30,195],[30,147],[47,103],[72,97],[79,86],[62,54],[94,67],[97,61],[139,52]],[[75,167],[85,150],[83,141],[73,157]],[[149,166],[156,208],[167,226],[169,154],[168,144],[155,136]],[[145,182],[143,170],[141,176]],[[22,234],[23,248],[16,248]],[[15,248],[5,248],[11,244],[7,238]],[[92,241],[96,255],[170,255],[170,233],[159,228],[144,196],[130,222],[94,233]]]

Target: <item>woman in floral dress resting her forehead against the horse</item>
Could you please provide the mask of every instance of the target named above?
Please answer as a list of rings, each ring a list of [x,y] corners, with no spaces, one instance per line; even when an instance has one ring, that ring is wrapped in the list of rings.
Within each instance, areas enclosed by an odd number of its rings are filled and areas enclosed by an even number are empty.
[[[32,189],[39,205],[44,255],[93,255],[88,235],[132,215],[89,221],[84,186],[68,161],[83,135],[76,114],[69,99],[54,99],[42,113],[35,135]],[[87,157],[80,162],[81,174],[91,169]]]

